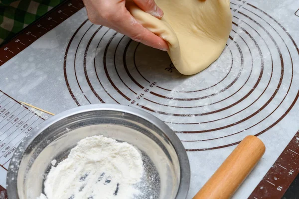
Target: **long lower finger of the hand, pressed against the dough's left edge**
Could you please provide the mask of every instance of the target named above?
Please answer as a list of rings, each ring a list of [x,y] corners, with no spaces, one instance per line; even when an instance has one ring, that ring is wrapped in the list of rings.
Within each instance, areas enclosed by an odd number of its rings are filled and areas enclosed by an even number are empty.
[[[167,43],[157,35],[150,32],[148,29],[138,23],[137,20],[128,12],[129,17],[122,18],[118,22],[118,29],[121,33],[129,36],[134,41],[141,42],[152,48],[157,48],[163,51],[168,50]]]

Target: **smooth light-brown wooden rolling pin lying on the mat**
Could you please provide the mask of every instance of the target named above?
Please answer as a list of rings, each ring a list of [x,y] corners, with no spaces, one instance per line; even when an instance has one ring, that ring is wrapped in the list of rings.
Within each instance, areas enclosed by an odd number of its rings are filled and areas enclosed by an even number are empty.
[[[256,136],[245,137],[193,199],[229,199],[265,152]]]

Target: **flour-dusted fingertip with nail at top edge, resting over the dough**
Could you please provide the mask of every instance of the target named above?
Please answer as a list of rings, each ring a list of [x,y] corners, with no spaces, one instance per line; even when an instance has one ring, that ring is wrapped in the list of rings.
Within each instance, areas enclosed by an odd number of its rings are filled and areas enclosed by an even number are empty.
[[[148,12],[154,17],[162,18],[164,15],[161,8],[157,6],[154,0],[134,0],[134,2],[145,12]]]

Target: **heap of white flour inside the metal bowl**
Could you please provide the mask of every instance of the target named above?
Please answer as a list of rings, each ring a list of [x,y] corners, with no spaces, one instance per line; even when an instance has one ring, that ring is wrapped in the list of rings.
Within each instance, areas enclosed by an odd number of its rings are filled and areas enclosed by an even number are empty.
[[[132,199],[144,173],[132,145],[103,136],[78,142],[68,158],[52,167],[39,199]]]

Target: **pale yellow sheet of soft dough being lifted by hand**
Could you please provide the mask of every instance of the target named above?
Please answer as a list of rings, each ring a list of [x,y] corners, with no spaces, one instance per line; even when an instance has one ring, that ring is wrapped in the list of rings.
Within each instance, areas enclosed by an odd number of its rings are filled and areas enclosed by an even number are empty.
[[[157,19],[132,1],[127,8],[149,31],[164,39],[176,69],[196,74],[222,53],[232,28],[229,0],[155,0],[164,11]]]

